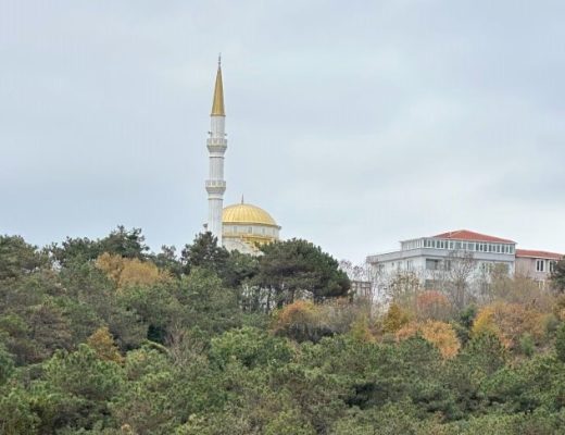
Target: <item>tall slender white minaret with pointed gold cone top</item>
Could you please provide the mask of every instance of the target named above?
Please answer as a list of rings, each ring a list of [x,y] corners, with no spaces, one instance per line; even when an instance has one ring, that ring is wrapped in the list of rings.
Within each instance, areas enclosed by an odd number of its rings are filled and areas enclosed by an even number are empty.
[[[222,246],[222,212],[224,210],[224,153],[227,149],[225,134],[226,114],[224,112],[224,87],[222,85],[222,58],[217,60],[216,86],[212,103],[211,127],[206,140],[210,152],[210,174],[206,179],[208,191],[208,231],[217,237]]]

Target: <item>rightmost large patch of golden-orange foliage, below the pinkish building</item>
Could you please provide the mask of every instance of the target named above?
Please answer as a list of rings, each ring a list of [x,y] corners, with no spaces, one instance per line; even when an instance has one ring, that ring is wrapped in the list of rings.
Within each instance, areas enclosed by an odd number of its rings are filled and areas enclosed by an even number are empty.
[[[494,302],[484,307],[473,324],[473,334],[495,334],[507,348],[518,345],[519,338],[530,334],[535,339],[543,336],[543,314],[520,303]]]

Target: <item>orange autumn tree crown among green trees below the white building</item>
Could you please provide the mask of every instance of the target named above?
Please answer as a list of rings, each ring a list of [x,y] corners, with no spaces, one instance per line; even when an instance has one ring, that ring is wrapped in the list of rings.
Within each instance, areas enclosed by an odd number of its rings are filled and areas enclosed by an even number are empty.
[[[424,323],[409,323],[397,332],[397,339],[406,339],[418,333],[424,339],[436,346],[443,358],[455,357],[461,348],[457,334],[453,327],[449,323],[432,320]]]

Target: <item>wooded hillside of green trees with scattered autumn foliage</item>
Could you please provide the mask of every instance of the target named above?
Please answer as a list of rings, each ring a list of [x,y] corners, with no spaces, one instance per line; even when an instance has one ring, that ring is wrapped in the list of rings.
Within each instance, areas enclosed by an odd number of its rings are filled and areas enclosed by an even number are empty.
[[[0,236],[0,433],[565,434],[565,260],[375,301],[310,241],[261,249]]]

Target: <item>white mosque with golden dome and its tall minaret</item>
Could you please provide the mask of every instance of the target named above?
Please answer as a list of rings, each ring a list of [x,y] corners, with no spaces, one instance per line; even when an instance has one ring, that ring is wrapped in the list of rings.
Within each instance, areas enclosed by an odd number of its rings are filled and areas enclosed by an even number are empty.
[[[208,224],[205,228],[216,238],[218,245],[227,250],[258,254],[260,246],[279,238],[280,226],[265,210],[246,203],[224,208],[224,154],[227,149],[225,133],[226,113],[224,110],[224,85],[222,83],[222,62],[218,59],[214,99],[212,102],[211,127],[206,147],[210,156],[208,191]]]

